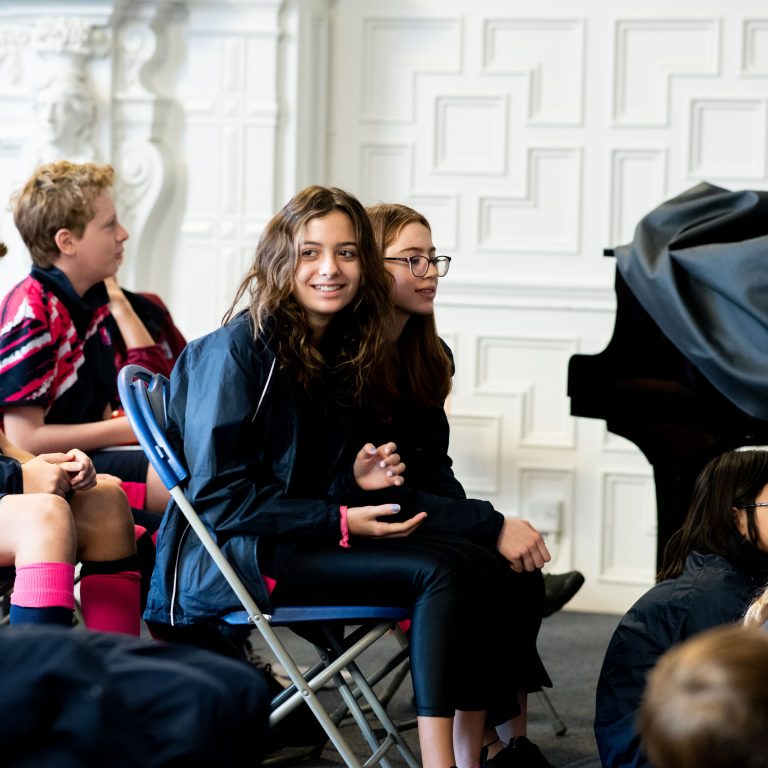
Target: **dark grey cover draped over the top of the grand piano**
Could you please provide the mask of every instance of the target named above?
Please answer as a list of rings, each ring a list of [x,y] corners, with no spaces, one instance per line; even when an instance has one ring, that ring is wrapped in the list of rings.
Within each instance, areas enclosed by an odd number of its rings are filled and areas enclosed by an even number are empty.
[[[632,293],[732,403],[768,419],[768,191],[702,183],[615,249]]]

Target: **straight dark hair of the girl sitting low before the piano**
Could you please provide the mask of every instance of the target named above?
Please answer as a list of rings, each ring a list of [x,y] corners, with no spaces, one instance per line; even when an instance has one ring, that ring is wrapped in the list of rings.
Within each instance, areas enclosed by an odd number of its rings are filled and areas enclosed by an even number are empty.
[[[766,485],[768,451],[727,451],[712,459],[696,478],[688,514],[667,543],[657,579],[679,576],[692,551],[738,558],[739,542],[745,537],[739,531],[737,510],[753,503]],[[744,512],[746,539],[756,544],[755,510]]]

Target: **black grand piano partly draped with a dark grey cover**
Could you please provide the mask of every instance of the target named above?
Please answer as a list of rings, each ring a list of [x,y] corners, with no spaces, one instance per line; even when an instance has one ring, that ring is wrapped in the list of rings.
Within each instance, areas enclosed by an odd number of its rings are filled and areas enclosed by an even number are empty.
[[[571,357],[568,396],[574,416],[605,420],[653,467],[660,564],[706,462],[768,445],[768,192],[700,184],[606,255],[613,336]]]

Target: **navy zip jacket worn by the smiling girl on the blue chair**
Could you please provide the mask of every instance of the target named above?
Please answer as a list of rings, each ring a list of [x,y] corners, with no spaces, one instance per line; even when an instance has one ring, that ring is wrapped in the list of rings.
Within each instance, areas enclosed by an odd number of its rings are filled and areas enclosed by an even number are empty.
[[[264,552],[274,562],[277,541],[283,556],[307,537],[338,541],[339,505],[347,503],[354,482],[352,457],[360,446],[348,439],[351,425],[338,423],[343,450],[335,466],[347,471],[330,483],[325,498],[301,498],[294,471],[298,428],[295,388],[269,339],[254,338],[247,314],[184,349],[171,377],[168,411],[169,439],[190,472],[184,494],[264,609],[269,608]],[[145,619],[186,625],[239,609],[171,501],[158,535]]]

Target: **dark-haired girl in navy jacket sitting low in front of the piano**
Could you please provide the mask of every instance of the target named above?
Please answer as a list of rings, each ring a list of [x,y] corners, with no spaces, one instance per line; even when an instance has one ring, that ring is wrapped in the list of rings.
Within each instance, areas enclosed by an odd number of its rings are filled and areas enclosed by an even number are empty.
[[[656,578],[619,622],[603,661],[595,736],[606,768],[650,765],[637,709],[664,651],[738,622],[768,583],[768,451],[730,451],[704,467]]]

